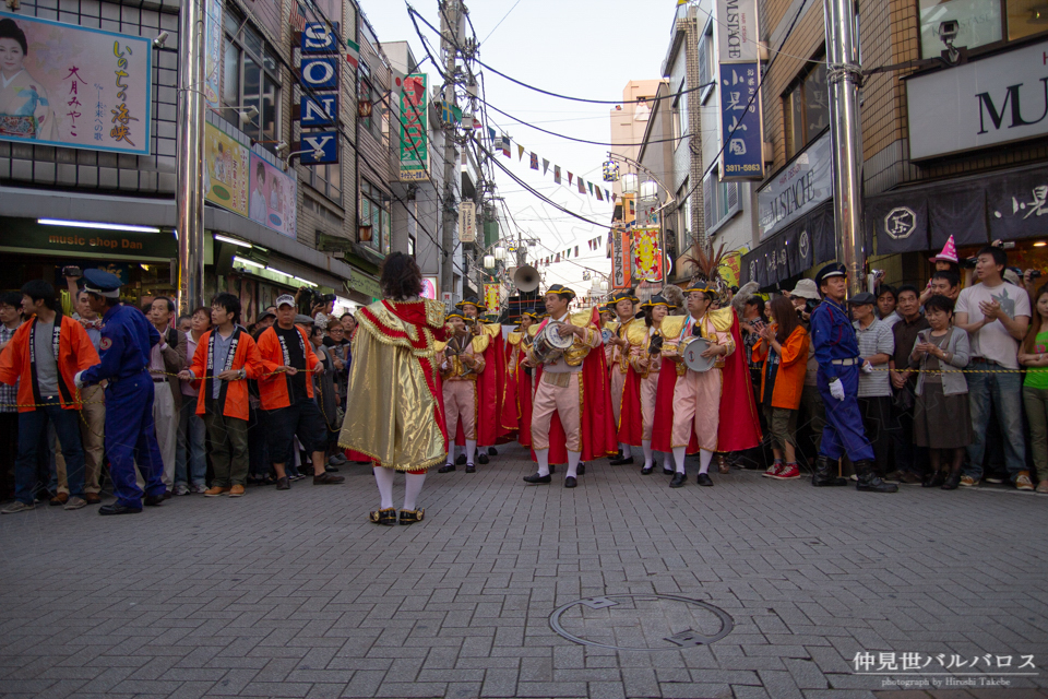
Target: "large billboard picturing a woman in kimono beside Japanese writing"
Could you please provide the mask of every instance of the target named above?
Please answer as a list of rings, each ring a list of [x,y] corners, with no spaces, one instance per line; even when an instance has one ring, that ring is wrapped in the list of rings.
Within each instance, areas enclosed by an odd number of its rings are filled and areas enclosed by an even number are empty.
[[[151,39],[0,12],[0,140],[150,154]],[[23,49],[24,47],[24,49]]]

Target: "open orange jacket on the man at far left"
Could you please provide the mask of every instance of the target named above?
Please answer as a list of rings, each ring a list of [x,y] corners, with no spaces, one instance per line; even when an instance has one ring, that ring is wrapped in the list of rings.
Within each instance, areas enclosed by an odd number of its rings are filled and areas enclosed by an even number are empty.
[[[58,339],[58,398],[63,408],[80,410],[74,378],[78,372],[84,371],[98,364],[98,353],[91,344],[87,331],[69,316],[61,313],[55,317],[60,323]],[[39,403],[36,394],[36,382],[33,380],[33,364],[29,352],[31,329],[36,325],[36,318],[22,323],[15,331],[11,342],[0,353],[0,383],[14,386],[19,382],[19,412],[32,413],[34,405]],[[47,339],[48,345],[51,339]]]

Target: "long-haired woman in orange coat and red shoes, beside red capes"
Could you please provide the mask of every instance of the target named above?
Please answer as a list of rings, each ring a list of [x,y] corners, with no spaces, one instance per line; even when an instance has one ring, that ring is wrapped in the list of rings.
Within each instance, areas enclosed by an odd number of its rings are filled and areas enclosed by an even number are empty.
[[[760,340],[753,345],[753,362],[763,362],[760,402],[775,454],[764,476],[786,481],[800,477],[797,412],[808,370],[808,331],[785,296],[772,299],[770,308],[771,324],[755,328]]]

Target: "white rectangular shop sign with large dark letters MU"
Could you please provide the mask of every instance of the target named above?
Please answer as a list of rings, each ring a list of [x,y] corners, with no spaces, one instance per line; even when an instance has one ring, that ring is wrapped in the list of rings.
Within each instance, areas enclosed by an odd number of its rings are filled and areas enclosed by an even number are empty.
[[[1048,42],[906,81],[914,161],[1048,134]]]

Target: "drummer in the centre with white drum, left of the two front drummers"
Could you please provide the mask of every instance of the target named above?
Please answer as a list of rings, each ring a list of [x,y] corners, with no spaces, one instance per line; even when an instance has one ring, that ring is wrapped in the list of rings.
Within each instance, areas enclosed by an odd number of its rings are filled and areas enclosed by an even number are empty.
[[[538,473],[525,476],[529,484],[547,484],[550,448],[556,447],[553,460],[559,458],[561,446],[565,449],[568,475],[565,488],[577,485],[581,459],[599,459],[615,453],[615,427],[611,401],[607,390],[607,364],[603,352],[591,352],[602,344],[600,332],[593,310],[569,313],[568,306],[575,293],[560,284],[553,284],[546,293],[546,310],[549,319],[528,329],[533,337],[550,325],[550,332],[561,337],[572,337],[570,347],[556,356],[537,358],[536,347],[528,348],[526,365],[539,368],[532,412],[532,448],[538,461]],[[534,332],[531,332],[533,331]],[[553,423],[557,413],[559,424]],[[555,427],[562,427],[563,445]],[[551,434],[551,430],[552,434]]]

